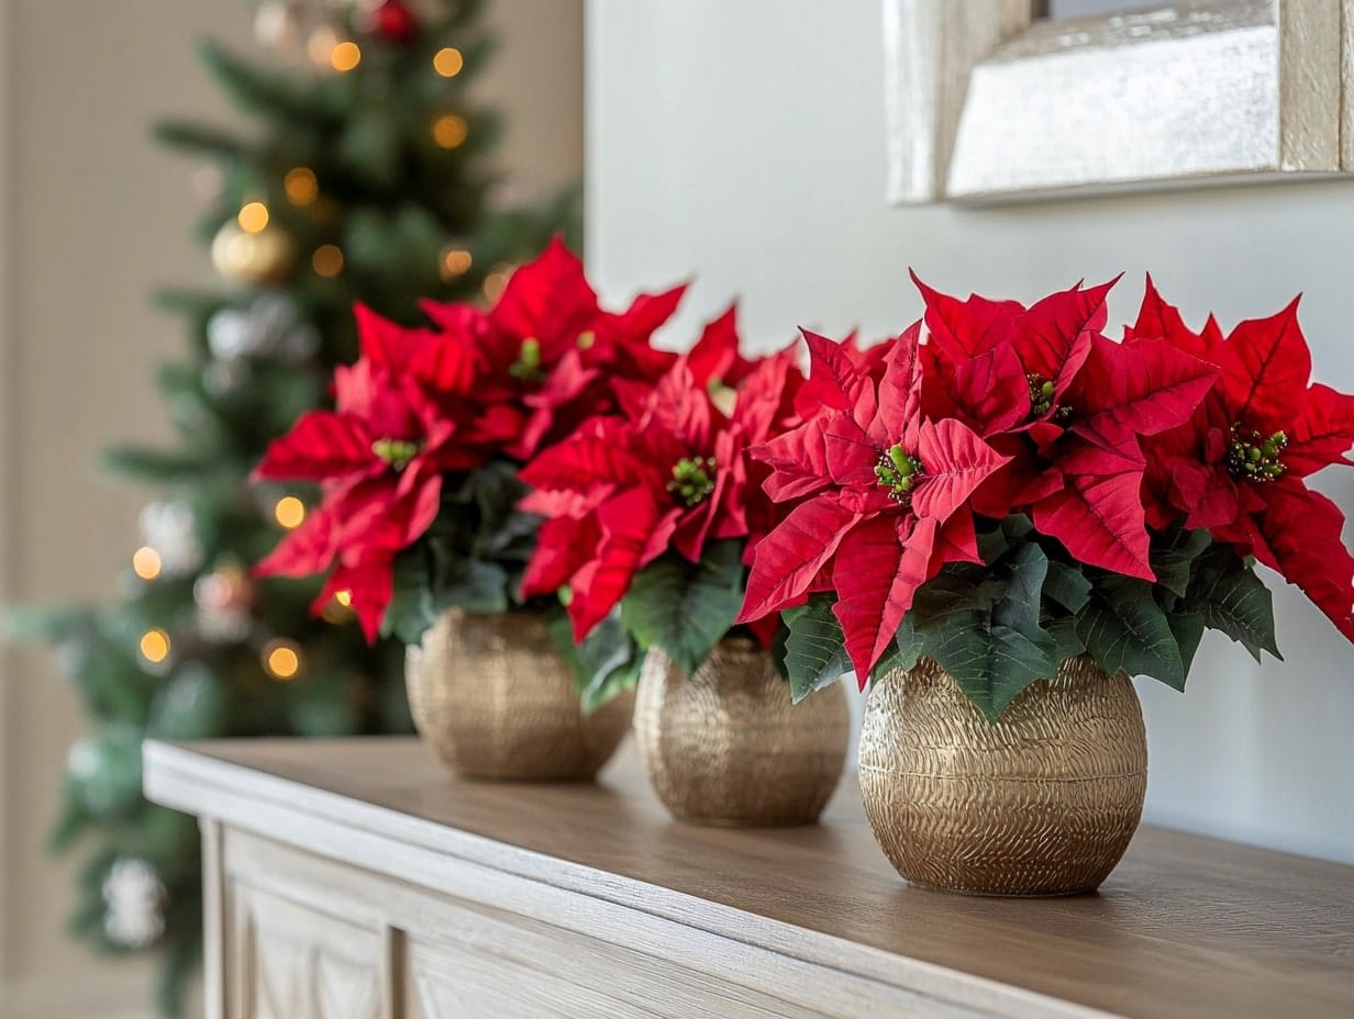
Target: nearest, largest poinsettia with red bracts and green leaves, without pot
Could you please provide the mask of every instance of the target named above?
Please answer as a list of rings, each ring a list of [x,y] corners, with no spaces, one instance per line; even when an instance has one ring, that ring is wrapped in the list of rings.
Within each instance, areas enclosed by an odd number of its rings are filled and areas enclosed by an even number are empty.
[[[995,720],[1089,654],[1183,689],[1205,628],[1277,655],[1255,562],[1354,639],[1343,517],[1304,478],[1347,463],[1354,397],[1312,384],[1296,306],[1223,336],[1148,281],[1030,307],[938,294],[868,352],[808,334],[802,422],[753,449],[789,505],[739,621],[784,613],[796,697],[926,655]]]

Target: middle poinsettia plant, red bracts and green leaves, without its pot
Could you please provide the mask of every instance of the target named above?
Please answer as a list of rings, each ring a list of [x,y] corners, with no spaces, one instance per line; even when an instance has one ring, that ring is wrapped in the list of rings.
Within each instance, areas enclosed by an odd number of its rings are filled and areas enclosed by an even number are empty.
[[[540,514],[525,595],[565,591],[558,643],[592,709],[634,685],[650,648],[693,673],[734,629],[751,549],[781,516],[750,449],[799,421],[791,349],[738,350],[734,309],[654,386],[617,380],[593,417],[521,471]],[[769,644],[777,618],[750,633]]]

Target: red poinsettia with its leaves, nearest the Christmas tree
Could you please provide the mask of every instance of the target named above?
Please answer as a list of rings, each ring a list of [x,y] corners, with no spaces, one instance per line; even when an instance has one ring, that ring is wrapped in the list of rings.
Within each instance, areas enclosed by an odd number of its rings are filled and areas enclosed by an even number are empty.
[[[523,604],[540,518],[517,505],[521,464],[676,364],[650,340],[681,294],[605,311],[555,241],[487,310],[428,303],[428,325],[406,327],[359,307],[362,356],[336,372],[334,409],[303,415],[256,471],[322,493],[256,572],[328,571],[315,612],[341,595],[368,639],[416,643],[447,608]]]

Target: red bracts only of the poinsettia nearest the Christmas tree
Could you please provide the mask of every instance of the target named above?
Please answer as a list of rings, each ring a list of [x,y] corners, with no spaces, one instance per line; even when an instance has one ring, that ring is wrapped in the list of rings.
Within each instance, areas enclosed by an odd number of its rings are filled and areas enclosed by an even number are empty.
[[[509,279],[487,311],[427,304],[433,329],[359,307],[362,359],[334,375],[337,409],[303,415],[256,475],[313,480],[324,501],[256,567],[303,576],[334,567],[315,602],[351,594],[368,639],[393,597],[395,556],[440,509],[443,475],[543,441],[615,409],[616,379],[649,383],[677,360],[650,338],[682,288],[603,310],[582,264],[554,241]]]

